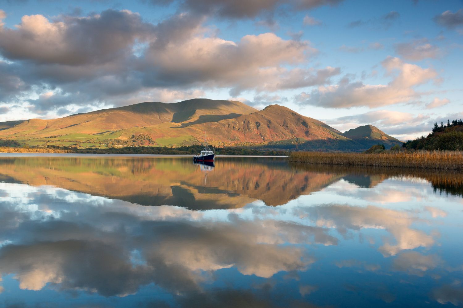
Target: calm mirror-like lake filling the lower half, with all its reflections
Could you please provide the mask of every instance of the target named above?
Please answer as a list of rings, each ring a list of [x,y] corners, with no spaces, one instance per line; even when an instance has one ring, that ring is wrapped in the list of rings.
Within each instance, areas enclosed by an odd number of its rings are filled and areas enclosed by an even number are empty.
[[[0,156],[2,307],[454,307],[463,176]]]

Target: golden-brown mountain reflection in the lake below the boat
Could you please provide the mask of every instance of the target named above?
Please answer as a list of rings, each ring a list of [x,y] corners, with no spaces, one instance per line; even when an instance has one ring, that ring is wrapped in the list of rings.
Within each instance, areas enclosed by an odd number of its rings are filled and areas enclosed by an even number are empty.
[[[191,209],[242,207],[257,199],[282,205],[337,181],[336,174],[291,169],[282,159],[218,159],[207,174],[188,159],[6,158],[7,182],[52,185],[141,205]]]

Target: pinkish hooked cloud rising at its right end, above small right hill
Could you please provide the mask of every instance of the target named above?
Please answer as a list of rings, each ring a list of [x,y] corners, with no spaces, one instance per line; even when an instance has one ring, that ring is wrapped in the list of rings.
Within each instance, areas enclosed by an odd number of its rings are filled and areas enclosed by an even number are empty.
[[[393,76],[387,85],[365,85],[343,78],[337,85],[319,86],[310,93],[303,92],[295,97],[295,101],[325,108],[375,108],[404,103],[419,97],[419,93],[413,90],[414,86],[425,84],[437,76],[432,68],[404,63],[399,58],[388,57],[381,64]]]

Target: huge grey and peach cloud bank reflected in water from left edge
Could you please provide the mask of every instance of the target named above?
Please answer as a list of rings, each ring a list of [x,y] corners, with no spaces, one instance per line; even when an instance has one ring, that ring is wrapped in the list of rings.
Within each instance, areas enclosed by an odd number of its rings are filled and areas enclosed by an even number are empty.
[[[338,242],[321,227],[248,221],[232,212],[214,221],[205,212],[176,206],[106,202],[60,188],[7,185],[16,197],[6,196],[0,207],[2,234],[11,236],[0,247],[0,269],[14,274],[21,289],[50,284],[124,296],[154,283],[175,292],[199,291],[200,283],[219,269],[269,278],[314,262],[305,248],[283,244]],[[60,219],[43,219],[49,212]],[[31,223],[36,220],[41,223]]]

